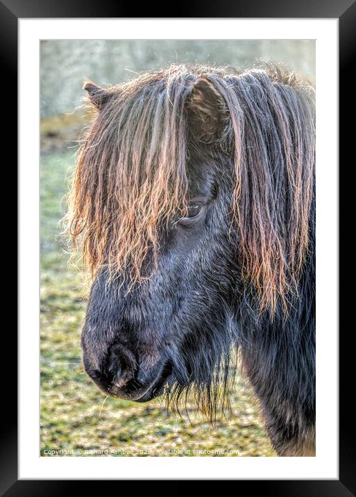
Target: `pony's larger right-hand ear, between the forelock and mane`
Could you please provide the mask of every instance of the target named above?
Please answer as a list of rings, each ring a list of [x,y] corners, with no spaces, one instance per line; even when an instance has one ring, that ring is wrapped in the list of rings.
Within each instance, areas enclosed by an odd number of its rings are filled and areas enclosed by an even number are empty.
[[[187,110],[194,140],[211,144],[226,136],[230,113],[223,96],[207,78],[194,83]]]

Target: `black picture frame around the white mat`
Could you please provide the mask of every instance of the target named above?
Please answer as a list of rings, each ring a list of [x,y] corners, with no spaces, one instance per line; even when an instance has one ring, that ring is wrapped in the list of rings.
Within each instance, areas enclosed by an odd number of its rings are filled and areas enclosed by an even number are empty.
[[[155,4],[156,6],[157,4]],[[155,16],[151,4],[139,6],[140,17],[253,17],[253,18],[337,18],[339,19],[339,163],[344,165],[346,174],[353,162],[346,162],[346,158],[353,160],[355,152],[355,79],[353,78],[354,61],[356,60],[356,1],[350,0],[238,0],[232,3],[220,0],[200,3],[191,0],[176,6],[175,15]],[[18,19],[23,18],[70,18],[70,17],[136,17],[137,5],[120,1],[109,0],[0,0],[0,53],[1,53],[1,80],[3,115],[6,116],[6,126],[3,129],[3,144],[11,150],[11,162],[7,163],[15,170],[15,151],[17,150],[17,29]],[[160,12],[162,14],[162,11]],[[10,91],[11,90],[11,91]],[[350,117],[353,117],[350,121]],[[348,155],[350,152],[350,155]],[[349,160],[350,160],[349,159]],[[347,165],[350,167],[348,168]],[[11,169],[11,168],[9,168]],[[340,168],[340,180],[343,176]],[[352,194],[344,197],[353,199]],[[339,208],[340,228],[347,225],[346,212],[348,208],[342,205]],[[19,241],[24,242],[24,240]],[[7,256],[8,257],[8,256]],[[352,259],[352,254],[345,255],[344,260]],[[341,287],[341,285],[340,285]],[[347,294],[346,290],[346,294]],[[344,311],[344,312],[343,312]],[[323,496],[346,497],[356,496],[355,478],[355,410],[351,405],[349,379],[355,378],[353,367],[353,329],[352,325],[342,327],[342,319],[350,314],[346,295],[340,298],[339,303],[339,480],[237,480],[235,491],[241,493],[242,487],[248,485],[249,491],[266,496]],[[8,321],[10,323],[10,321]],[[1,423],[1,495],[23,496],[28,494],[59,496],[68,494],[69,486],[83,491],[83,482],[74,480],[18,480],[17,477],[17,394],[14,385],[17,384],[17,370],[15,356],[17,351],[17,337],[15,330],[6,332],[6,353],[2,354],[3,366],[10,376],[6,380],[3,376],[2,400],[3,421]],[[5,329],[5,328],[4,328]],[[348,332],[350,330],[350,332]],[[5,335],[5,334],[4,334]],[[4,339],[4,338],[3,338]],[[4,344],[3,344],[4,346]],[[12,351],[12,353],[10,353]],[[351,394],[351,397],[353,395]],[[281,475],[282,478],[282,475]],[[79,487],[80,485],[80,487]],[[103,482],[99,482],[103,491]],[[90,494],[94,494],[96,482],[90,482]],[[72,489],[76,491],[75,489]],[[167,489],[165,491],[168,491]]]

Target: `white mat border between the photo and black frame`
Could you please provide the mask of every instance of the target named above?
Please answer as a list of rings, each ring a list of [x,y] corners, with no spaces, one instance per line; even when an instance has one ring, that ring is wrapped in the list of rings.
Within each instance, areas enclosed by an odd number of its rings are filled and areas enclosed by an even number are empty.
[[[39,40],[152,33],[316,39],[316,457],[39,457]],[[337,19],[19,19],[19,479],[338,478],[337,35]]]

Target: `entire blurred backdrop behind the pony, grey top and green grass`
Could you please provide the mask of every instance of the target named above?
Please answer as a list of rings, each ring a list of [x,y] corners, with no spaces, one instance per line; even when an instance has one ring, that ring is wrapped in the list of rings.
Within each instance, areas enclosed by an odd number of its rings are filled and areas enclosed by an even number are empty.
[[[314,81],[314,40],[43,40],[40,57],[41,455],[51,450],[82,456],[101,455],[101,450],[118,456],[181,455],[184,450],[192,456],[276,455],[241,376],[231,392],[231,416],[216,426],[190,406],[180,418],[159,400],[146,405],[105,398],[92,384],[80,354],[87,289],[80,273],[67,266],[60,219],[78,134],[87,124],[78,109],[85,77],[105,85],[172,62],[244,69],[262,58],[283,62]]]

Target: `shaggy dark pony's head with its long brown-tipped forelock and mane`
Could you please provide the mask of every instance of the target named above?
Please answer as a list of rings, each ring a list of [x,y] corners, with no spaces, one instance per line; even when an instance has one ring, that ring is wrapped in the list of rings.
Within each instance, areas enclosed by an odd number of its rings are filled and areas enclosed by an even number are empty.
[[[117,355],[131,380],[150,361],[161,364],[161,377],[169,362],[178,390],[204,384],[211,404],[216,371],[226,371],[236,344],[236,307],[273,319],[278,310],[288,316],[298,298],[312,229],[312,85],[278,67],[173,65],[105,89],[86,81],[84,89],[92,122],[68,231],[94,282],[83,330],[87,371],[108,391],[109,349],[125,336],[130,346]],[[180,335],[168,344],[172,330]],[[192,351],[200,349],[194,371]]]

